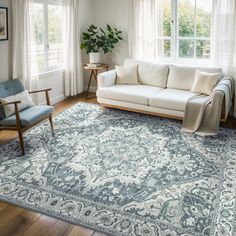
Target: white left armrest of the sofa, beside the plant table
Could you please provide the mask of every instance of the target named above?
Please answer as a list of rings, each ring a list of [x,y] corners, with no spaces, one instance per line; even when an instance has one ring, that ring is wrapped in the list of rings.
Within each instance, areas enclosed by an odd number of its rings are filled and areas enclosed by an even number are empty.
[[[109,70],[97,76],[98,89],[115,85],[116,71]]]

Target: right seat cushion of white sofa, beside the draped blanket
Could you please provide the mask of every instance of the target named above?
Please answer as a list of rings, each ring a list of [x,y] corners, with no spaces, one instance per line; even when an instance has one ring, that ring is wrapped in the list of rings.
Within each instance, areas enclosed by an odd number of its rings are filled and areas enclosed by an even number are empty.
[[[199,93],[179,89],[164,89],[151,96],[150,106],[184,111],[187,101],[197,95]]]

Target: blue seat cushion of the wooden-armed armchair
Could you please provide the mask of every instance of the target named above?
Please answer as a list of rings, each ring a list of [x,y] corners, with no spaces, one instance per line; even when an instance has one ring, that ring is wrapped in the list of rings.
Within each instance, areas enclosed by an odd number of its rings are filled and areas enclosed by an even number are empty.
[[[53,106],[34,106],[19,112],[21,125],[29,126],[53,112]],[[11,115],[0,121],[0,125],[16,125],[16,116]]]

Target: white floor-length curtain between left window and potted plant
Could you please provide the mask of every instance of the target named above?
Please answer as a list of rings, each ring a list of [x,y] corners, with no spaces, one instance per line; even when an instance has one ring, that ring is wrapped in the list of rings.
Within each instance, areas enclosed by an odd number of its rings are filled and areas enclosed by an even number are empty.
[[[83,92],[79,21],[79,0],[63,0],[66,96]]]

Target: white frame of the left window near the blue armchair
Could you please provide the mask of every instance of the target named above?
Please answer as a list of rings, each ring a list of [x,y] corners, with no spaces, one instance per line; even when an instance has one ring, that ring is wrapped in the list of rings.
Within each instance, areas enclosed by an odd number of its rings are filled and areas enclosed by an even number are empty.
[[[51,73],[54,71],[61,71],[64,70],[63,64],[58,64],[56,66],[50,66],[49,65],[49,51],[50,51],[50,44],[49,44],[49,38],[48,38],[48,6],[49,5],[55,5],[55,6],[62,6],[62,0],[34,0],[34,3],[42,4],[43,5],[43,44],[44,44],[44,67],[39,68],[39,74],[45,74],[45,73]],[[63,46],[63,44],[62,44]],[[63,49],[63,47],[62,47]],[[38,52],[37,52],[38,53]]]

